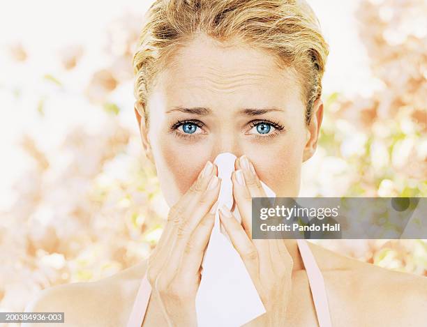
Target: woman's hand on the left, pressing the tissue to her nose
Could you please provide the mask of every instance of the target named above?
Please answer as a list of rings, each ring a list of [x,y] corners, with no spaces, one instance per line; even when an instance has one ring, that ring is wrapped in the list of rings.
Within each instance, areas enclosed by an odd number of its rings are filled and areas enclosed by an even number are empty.
[[[218,168],[211,162],[172,206],[165,230],[148,260],[147,277],[169,326],[197,326],[195,295],[200,265],[215,220],[220,190]]]

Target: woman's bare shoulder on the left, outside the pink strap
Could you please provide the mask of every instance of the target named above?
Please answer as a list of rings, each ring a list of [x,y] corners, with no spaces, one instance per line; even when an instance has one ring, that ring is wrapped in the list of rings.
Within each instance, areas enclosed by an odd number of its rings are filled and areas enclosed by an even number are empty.
[[[54,326],[123,326],[132,310],[146,261],[96,282],[63,284],[40,291],[25,312],[64,312]],[[36,324],[22,324],[22,327]]]

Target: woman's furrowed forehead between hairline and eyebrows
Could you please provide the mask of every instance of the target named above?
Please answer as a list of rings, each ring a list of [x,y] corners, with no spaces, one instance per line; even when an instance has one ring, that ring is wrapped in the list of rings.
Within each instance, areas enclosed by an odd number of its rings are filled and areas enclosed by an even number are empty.
[[[172,56],[156,89],[174,101],[171,105],[200,105],[201,101],[212,100],[240,102],[242,106],[301,104],[296,72],[279,68],[276,60],[272,54],[248,44],[225,47],[200,36]]]

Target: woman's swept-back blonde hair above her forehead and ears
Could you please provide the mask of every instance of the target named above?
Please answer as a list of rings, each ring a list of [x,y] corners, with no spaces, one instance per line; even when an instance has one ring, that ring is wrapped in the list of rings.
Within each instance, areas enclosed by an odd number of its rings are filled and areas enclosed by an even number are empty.
[[[276,56],[278,66],[294,68],[310,123],[329,48],[304,0],[156,0],[144,16],[133,57],[134,93],[144,104],[146,123],[147,98],[156,77],[170,56],[199,33],[222,42],[243,40]]]

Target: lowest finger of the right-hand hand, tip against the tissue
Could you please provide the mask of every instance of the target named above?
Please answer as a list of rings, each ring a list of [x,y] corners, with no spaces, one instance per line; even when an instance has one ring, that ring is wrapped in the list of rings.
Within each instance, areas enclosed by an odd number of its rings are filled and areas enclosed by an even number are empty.
[[[255,245],[248,238],[248,234],[244,228],[239,224],[234,215],[223,206],[219,210],[220,222],[223,223],[225,231],[227,231],[232,245],[239,252],[241,259],[244,261],[246,269],[253,277],[253,280],[259,278],[259,257],[258,250]]]

